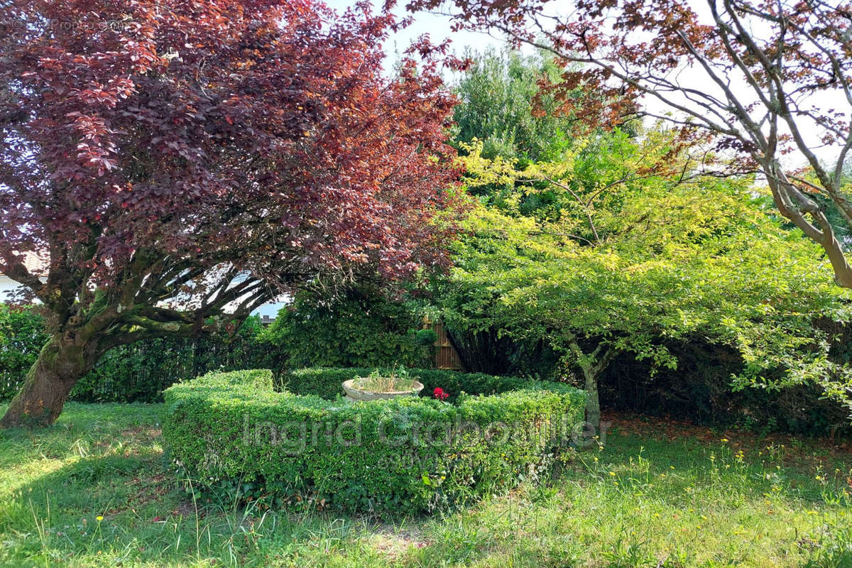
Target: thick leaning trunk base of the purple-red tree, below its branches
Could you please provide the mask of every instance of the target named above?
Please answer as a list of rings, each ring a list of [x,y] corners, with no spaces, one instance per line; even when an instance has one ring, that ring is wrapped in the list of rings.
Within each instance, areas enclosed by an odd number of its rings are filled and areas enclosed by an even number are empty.
[[[64,345],[60,338],[51,338],[27,372],[0,427],[38,427],[56,422],[71,389],[95,361],[85,347]]]

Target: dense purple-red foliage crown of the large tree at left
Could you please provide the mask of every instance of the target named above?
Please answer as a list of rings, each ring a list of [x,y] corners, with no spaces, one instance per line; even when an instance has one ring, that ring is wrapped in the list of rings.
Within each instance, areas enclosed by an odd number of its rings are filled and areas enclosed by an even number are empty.
[[[427,41],[383,73],[404,25],[314,0],[0,4],[0,271],[55,351],[28,384],[308,281],[445,266],[454,100]],[[49,398],[9,412],[49,422]]]

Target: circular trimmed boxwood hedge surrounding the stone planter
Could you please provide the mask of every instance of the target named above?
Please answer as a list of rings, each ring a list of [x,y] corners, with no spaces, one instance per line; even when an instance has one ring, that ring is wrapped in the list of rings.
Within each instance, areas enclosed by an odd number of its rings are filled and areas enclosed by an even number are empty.
[[[573,387],[450,371],[412,376],[455,395],[452,404],[319,396],[365,371],[298,371],[282,392],[267,370],[209,373],[170,387],[163,422],[170,456],[194,487],[228,498],[419,513],[535,478],[583,416],[584,393]]]

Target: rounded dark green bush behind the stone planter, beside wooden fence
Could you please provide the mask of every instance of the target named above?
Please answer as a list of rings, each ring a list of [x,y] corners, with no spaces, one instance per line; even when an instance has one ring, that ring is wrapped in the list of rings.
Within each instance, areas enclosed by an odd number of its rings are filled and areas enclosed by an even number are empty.
[[[435,334],[421,318],[377,291],[347,290],[329,301],[302,290],[264,334],[292,368],[429,364]],[[427,330],[428,331],[428,330]],[[429,339],[431,338],[431,341]]]

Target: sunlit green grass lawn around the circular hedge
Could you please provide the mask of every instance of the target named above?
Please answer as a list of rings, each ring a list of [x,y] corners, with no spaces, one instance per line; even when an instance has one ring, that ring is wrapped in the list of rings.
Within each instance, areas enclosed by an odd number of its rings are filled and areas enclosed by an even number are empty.
[[[389,523],[197,507],[159,410],[0,433],[0,565],[852,567],[852,456],[824,442],[620,419],[548,485]]]

